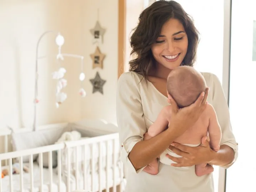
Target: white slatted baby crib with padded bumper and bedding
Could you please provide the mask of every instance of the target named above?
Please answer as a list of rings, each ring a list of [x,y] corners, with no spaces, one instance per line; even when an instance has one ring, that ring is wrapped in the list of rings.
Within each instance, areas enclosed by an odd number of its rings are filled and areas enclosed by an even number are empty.
[[[82,138],[53,144],[54,139],[68,130],[80,132]],[[11,152],[6,152],[8,137],[14,148]],[[0,177],[0,192],[122,192],[124,189],[117,127],[113,124],[84,120],[42,126],[36,132],[26,128],[14,131],[0,129],[0,138],[4,138],[2,143],[5,146],[5,153],[0,154],[3,164],[0,164],[0,173],[4,169],[10,173]],[[39,142],[40,138],[43,141]],[[43,166],[45,155],[48,156],[47,168]],[[57,156],[56,162],[54,156]],[[10,171],[14,159],[18,159],[20,174]],[[53,167],[54,164],[57,167]],[[23,166],[29,167],[28,173],[23,172]]]

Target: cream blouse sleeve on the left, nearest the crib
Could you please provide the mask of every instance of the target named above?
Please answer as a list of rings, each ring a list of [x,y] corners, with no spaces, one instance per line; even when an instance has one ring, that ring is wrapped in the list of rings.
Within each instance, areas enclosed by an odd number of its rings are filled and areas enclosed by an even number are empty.
[[[133,172],[135,170],[128,155],[133,146],[143,140],[146,125],[140,97],[140,79],[134,72],[127,72],[120,76],[117,82],[117,125],[121,158],[124,165]]]

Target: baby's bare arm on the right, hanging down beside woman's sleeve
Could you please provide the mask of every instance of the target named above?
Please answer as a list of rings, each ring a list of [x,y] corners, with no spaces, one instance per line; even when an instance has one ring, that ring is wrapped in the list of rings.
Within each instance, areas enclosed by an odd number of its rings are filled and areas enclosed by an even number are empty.
[[[220,148],[220,139],[222,137],[222,132],[221,132],[221,128],[220,128],[217,115],[213,106],[210,104],[208,105],[209,105],[209,113],[210,113],[209,127],[208,127],[210,147],[213,150],[218,151]]]

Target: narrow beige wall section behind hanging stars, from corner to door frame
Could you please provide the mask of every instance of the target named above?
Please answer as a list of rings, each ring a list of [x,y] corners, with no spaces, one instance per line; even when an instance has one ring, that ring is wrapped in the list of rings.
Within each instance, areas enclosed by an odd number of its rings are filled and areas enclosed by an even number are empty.
[[[92,86],[86,81],[88,96],[82,102],[84,118],[103,118],[108,122],[116,123],[116,86],[118,78],[118,0],[99,0],[99,20],[106,28],[104,43],[100,45],[102,53],[106,54],[102,69],[92,69],[92,60],[89,54],[94,53],[96,45],[91,43],[90,29],[95,26],[97,18],[97,0],[87,0],[84,7],[84,55],[88,79],[94,78],[99,71],[102,79],[106,80],[103,87],[104,95],[92,94]]]

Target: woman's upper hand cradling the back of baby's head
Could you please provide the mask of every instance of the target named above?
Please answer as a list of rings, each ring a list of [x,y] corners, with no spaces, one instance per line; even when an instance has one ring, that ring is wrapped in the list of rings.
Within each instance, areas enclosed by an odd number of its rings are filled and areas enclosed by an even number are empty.
[[[193,126],[198,120],[199,116],[206,108],[207,96],[209,88],[207,87],[204,92],[198,97],[198,99],[188,107],[178,108],[174,99],[168,95],[168,101],[171,104],[171,115],[168,118],[169,128],[171,132],[177,137],[182,135],[188,128]]]

